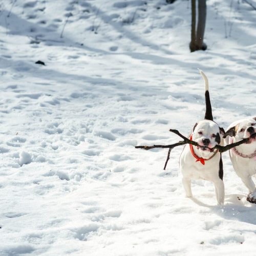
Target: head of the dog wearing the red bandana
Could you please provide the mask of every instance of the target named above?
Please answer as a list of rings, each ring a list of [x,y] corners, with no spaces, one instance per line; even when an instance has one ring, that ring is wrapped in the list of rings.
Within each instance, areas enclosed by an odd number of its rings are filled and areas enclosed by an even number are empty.
[[[203,120],[195,124],[192,139],[200,145],[197,151],[207,157],[211,153],[210,148],[221,144],[224,133],[216,122]]]

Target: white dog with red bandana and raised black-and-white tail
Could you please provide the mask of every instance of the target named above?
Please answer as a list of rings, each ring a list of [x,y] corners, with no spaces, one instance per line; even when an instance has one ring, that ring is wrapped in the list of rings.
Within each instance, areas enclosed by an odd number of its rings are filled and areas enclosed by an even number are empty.
[[[213,121],[206,75],[200,70],[205,81],[205,119],[196,123],[189,138],[200,146],[186,144],[180,156],[182,183],[187,197],[192,197],[191,180],[209,180],[215,185],[218,204],[224,203],[223,164],[218,150],[211,150],[217,144],[223,144],[224,130]]]

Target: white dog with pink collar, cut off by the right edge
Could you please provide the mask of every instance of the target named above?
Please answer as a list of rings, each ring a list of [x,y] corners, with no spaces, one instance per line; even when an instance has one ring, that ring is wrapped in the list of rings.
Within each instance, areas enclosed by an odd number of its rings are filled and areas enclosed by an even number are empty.
[[[256,117],[231,123],[224,138],[227,144],[250,138],[248,143],[229,150],[229,156],[234,170],[249,190],[247,201],[256,203],[256,188],[251,179],[256,174]]]

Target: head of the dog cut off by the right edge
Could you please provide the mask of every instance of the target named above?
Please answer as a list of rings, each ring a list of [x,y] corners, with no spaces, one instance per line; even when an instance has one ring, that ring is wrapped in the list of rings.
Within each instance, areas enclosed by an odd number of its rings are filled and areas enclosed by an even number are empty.
[[[237,124],[230,125],[224,138],[234,137],[235,141],[250,138],[248,143],[256,141],[256,117],[239,120]]]

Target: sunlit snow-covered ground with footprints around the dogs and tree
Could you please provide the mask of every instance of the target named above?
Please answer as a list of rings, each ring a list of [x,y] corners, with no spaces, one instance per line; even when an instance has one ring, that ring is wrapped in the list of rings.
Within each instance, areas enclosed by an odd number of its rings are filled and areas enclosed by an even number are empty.
[[[190,53],[190,1],[1,2],[0,255],[255,255],[227,153],[217,206],[208,181],[184,197],[182,147],[166,171],[166,150],[134,148],[203,118],[198,68],[224,129],[255,115],[256,11],[207,5],[208,50]]]

